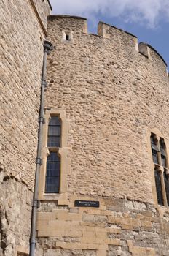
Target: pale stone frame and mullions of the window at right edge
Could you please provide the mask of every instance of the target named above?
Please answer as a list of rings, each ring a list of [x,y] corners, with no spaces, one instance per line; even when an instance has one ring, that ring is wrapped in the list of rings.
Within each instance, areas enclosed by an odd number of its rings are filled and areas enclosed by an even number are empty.
[[[154,128],[149,130],[149,154],[151,156],[150,159],[152,159],[152,147],[151,147],[151,141],[150,141],[150,137],[152,135],[152,133],[154,135],[156,135],[157,140],[160,141],[160,138],[164,138],[165,136],[162,135],[162,133]],[[160,217],[163,217],[163,215],[165,214],[166,211],[169,212],[169,206],[168,206],[168,202],[167,202],[167,197],[166,197],[166,192],[165,192],[165,183],[164,183],[164,178],[163,178],[163,173],[164,170],[169,170],[169,157],[168,157],[168,148],[169,148],[169,141],[165,139],[165,146],[166,146],[166,161],[167,161],[167,168],[162,166],[161,163],[161,159],[160,159],[160,165],[154,164],[154,162],[152,161],[152,195],[153,195],[153,199],[154,199],[154,205],[157,208],[157,210],[159,211]],[[159,152],[160,154],[160,152]],[[164,206],[161,206],[158,204],[157,202],[157,191],[156,191],[156,184],[155,184],[155,177],[154,177],[154,167],[158,167],[158,170],[160,170],[160,172],[162,173],[162,196],[163,196],[163,200],[164,200]]]

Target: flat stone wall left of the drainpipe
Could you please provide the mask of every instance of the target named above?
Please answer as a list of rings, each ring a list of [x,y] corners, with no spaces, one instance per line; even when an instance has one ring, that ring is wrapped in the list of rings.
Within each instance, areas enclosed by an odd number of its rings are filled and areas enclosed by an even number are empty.
[[[44,16],[50,13],[49,4],[39,1],[36,7],[43,13],[42,22],[46,24]],[[0,255],[3,256],[28,252],[45,34],[35,11],[33,1],[29,0],[0,3]]]

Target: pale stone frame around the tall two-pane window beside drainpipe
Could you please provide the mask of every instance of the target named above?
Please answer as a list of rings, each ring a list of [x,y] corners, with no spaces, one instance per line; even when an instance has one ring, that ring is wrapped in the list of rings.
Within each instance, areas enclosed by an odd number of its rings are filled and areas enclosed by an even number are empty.
[[[52,151],[58,151],[60,156],[60,192],[59,193],[45,193],[45,179],[46,179],[46,165],[49,148],[47,147],[47,130],[49,119],[51,116],[59,116],[61,120],[61,138],[60,148],[52,148]],[[60,205],[68,205],[67,196],[67,176],[71,171],[71,159],[68,157],[70,148],[67,146],[69,121],[66,118],[65,110],[45,110],[43,126],[43,141],[42,141],[42,166],[39,176],[39,200],[58,200]]]

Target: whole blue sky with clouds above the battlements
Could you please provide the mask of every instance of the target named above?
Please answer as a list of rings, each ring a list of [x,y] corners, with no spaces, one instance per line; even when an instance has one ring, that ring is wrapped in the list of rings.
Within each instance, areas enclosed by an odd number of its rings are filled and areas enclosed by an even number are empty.
[[[52,14],[79,15],[97,34],[98,21],[117,26],[157,50],[169,69],[169,0],[50,0]]]

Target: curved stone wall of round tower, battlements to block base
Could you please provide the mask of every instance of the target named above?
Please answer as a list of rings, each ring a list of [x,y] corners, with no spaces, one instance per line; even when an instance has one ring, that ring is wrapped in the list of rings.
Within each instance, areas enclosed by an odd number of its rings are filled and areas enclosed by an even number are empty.
[[[39,192],[36,255],[168,255],[168,208],[153,193],[149,143],[154,128],[169,138],[165,62],[105,23],[94,35],[83,18],[50,16],[48,31],[55,49],[45,106],[47,115],[66,113],[71,170],[63,193]],[[63,31],[71,31],[70,42]]]

